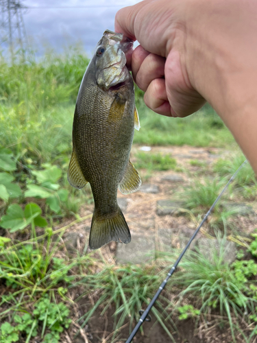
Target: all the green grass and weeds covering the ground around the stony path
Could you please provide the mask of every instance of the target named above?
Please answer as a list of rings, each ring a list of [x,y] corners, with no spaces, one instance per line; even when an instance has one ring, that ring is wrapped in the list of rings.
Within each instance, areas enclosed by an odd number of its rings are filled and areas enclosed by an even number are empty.
[[[149,304],[180,252],[174,248],[164,258],[156,253],[145,265],[119,265],[102,250],[88,252],[86,245],[67,252],[64,233],[92,216],[81,217],[93,202],[90,187],[78,191],[66,180],[75,99],[88,65],[86,56],[71,51],[46,54],[39,61],[30,56],[12,66],[0,57],[0,343],[64,342],[71,327],[73,339],[95,314],[105,316],[110,309],[113,333],[106,342],[117,341],[125,324],[132,329],[138,311]],[[132,156],[148,178],[154,171],[187,170],[190,182],[178,195],[186,199],[186,211],[200,219],[244,156],[235,154],[232,135],[210,106],[185,119],[157,116],[145,108],[138,88],[136,106],[141,125],[136,144],[232,150],[232,156],[212,165],[191,158],[187,167],[171,154],[140,151]],[[225,204],[233,197],[256,200],[249,165],[212,213],[209,235],[214,228],[228,233],[236,225],[236,209]],[[188,254],[156,302],[154,316],[173,342],[178,320],[197,321],[215,313],[229,323],[233,338],[237,332],[252,343],[257,330],[257,234],[234,241],[243,249],[234,263],[226,260],[225,235],[212,259],[197,250]],[[82,298],[86,310],[79,318]],[[241,330],[242,320],[250,333]]]

